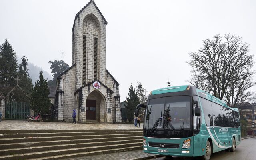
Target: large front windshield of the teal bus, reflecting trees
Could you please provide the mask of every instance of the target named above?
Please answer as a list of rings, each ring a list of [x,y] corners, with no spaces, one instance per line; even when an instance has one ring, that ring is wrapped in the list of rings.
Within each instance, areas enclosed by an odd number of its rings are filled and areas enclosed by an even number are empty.
[[[190,96],[172,96],[148,100],[144,129],[183,130],[190,128]]]

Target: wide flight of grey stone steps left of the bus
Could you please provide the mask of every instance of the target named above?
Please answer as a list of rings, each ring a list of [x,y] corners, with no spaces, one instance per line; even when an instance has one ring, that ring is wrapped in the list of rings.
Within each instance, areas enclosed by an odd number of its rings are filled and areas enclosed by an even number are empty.
[[[142,149],[142,130],[104,131],[9,132],[0,136],[0,160],[50,160]]]

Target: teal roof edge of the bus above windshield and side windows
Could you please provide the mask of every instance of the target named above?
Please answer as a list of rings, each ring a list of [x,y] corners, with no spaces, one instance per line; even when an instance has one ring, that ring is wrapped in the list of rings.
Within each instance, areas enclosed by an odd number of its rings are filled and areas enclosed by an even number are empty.
[[[203,97],[207,100],[210,100],[214,103],[217,103],[217,104],[225,106],[229,109],[238,111],[237,108],[229,107],[223,100],[220,100],[219,98],[212,96],[212,94],[209,94],[203,90],[200,90],[200,89],[196,88],[195,86],[184,85],[184,86],[172,86],[172,87],[160,88],[157,90],[153,90],[151,92],[151,94],[156,95],[156,94],[164,94],[164,93],[171,93],[171,92],[182,92],[182,91],[191,90],[191,89],[196,90],[196,92],[193,93],[194,95],[198,95],[198,96]]]

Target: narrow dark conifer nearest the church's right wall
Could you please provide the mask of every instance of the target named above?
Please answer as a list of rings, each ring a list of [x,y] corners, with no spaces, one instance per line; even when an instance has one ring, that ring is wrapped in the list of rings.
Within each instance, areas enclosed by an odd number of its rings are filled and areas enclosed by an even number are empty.
[[[125,108],[126,108],[127,118],[132,121],[134,119],[135,108],[140,103],[140,100],[132,84],[129,88],[128,96],[129,97],[126,97],[126,100],[128,103],[127,103],[127,106],[125,105]]]

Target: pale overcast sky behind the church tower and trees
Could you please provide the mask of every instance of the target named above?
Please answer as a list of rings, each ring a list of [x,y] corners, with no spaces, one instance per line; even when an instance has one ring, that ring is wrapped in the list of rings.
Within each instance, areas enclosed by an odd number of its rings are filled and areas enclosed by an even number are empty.
[[[8,39],[17,56],[51,72],[49,60],[72,65],[74,17],[89,0],[1,0],[0,44]],[[121,101],[131,83],[147,94],[184,85],[188,53],[215,34],[236,34],[256,52],[254,0],[94,0],[106,20],[106,68],[120,83]],[[256,67],[254,67],[256,69]],[[256,75],[254,76],[256,80]],[[254,91],[256,87],[252,88]]]

